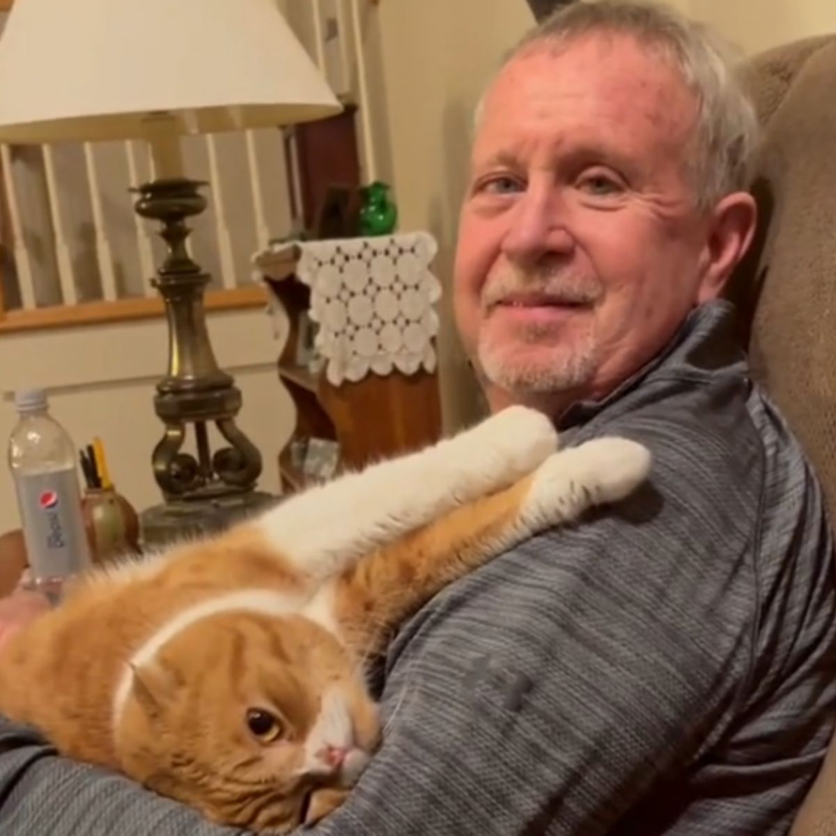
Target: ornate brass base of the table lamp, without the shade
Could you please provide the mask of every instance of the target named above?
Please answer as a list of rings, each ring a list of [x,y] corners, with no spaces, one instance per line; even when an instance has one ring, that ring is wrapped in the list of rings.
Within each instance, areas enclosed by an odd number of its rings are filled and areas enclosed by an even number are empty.
[[[151,456],[164,502],[140,514],[142,542],[158,546],[183,534],[217,531],[277,497],[256,490],[262,472],[257,447],[236,426],[241,391],[217,364],[206,329],[203,294],[209,275],[186,251],[191,232],[186,219],[206,208],[198,191],[206,185],[186,178],[145,183],[135,210],[161,223],[166,260],[152,280],[166,303],[169,356],[166,376],[157,384],[156,414],[166,426]],[[212,453],[209,426],[227,446]],[[196,455],[183,449],[187,429]]]

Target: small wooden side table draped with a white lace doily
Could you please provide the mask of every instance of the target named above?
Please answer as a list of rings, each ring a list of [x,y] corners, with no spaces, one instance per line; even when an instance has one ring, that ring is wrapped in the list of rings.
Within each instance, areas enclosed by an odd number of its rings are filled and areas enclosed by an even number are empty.
[[[319,478],[298,461],[312,446],[339,472],[441,436],[436,249],[429,233],[402,232],[276,243],[253,257],[276,333],[288,333],[278,375],[296,421],[278,459],[285,492]]]

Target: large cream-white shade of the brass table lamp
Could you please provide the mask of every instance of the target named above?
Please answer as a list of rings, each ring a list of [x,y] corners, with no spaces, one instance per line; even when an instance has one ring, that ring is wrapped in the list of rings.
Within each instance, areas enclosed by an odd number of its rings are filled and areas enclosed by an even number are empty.
[[[339,101],[276,0],[15,0],[0,140],[127,139],[287,125]]]

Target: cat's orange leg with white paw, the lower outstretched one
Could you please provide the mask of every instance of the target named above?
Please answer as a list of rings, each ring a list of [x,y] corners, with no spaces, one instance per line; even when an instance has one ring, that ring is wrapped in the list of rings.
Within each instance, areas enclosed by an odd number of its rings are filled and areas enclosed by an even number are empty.
[[[341,630],[360,655],[374,655],[390,630],[446,584],[535,533],[573,522],[590,506],[626,497],[649,469],[647,448],[621,438],[554,453],[511,487],[366,555],[305,614]]]

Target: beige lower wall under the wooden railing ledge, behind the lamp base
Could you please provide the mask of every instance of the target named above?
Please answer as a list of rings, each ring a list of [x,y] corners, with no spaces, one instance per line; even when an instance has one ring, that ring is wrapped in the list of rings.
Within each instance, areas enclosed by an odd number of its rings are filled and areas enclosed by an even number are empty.
[[[218,362],[235,376],[244,405],[238,421],[264,456],[262,487],[278,492],[276,456],[291,431],[289,395],[278,383],[280,343],[262,310],[211,314]],[[138,511],[161,501],[150,453],[163,430],[154,413],[154,386],[166,370],[163,320],[0,336],[0,439],[5,445],[16,415],[11,393],[48,389],[54,415],[76,446],[100,436],[110,475]],[[193,447],[191,447],[193,449]],[[5,462],[5,453],[4,459]],[[18,526],[13,483],[0,467],[0,533]]]

